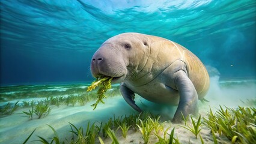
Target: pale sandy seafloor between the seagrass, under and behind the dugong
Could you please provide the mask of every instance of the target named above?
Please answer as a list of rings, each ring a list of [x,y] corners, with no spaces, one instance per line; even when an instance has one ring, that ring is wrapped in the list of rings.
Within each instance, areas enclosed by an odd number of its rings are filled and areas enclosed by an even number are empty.
[[[216,109],[219,109],[219,105],[231,108],[236,108],[238,106],[255,107],[256,104],[248,106],[248,103],[245,103],[245,101],[255,99],[255,94],[255,84],[234,85],[220,88],[218,85],[218,77],[212,77],[211,86],[206,96],[206,99],[210,102],[200,102],[200,115],[206,116],[206,113],[209,112],[209,107],[215,112]],[[138,95],[135,100],[141,109],[150,110],[150,112],[155,115],[160,114],[164,121],[171,120],[175,109],[177,108],[150,103]],[[106,98],[104,101],[105,104],[99,104],[96,110],[93,110],[93,107],[90,106],[94,102],[88,103],[85,106],[76,105],[75,107],[66,105],[61,105],[59,107],[52,106],[52,110],[48,116],[37,119],[37,116],[34,115],[32,120],[29,120],[28,117],[25,117],[25,114],[22,113],[23,111],[28,112],[28,109],[31,108],[19,109],[10,116],[0,118],[0,143],[23,143],[35,128],[36,130],[34,134],[27,143],[40,143],[34,141],[39,140],[38,136],[44,137],[44,139],[53,137],[53,131],[47,125],[51,125],[55,128],[61,141],[68,143],[66,139],[70,140],[72,138],[72,133],[69,132],[71,130],[69,122],[78,128],[82,126],[85,130],[88,121],[92,124],[93,122],[108,121],[108,119],[112,118],[114,115],[117,118],[121,115],[125,116],[136,113],[135,110],[126,104],[121,96]],[[194,134],[178,125],[166,122],[165,128],[167,127],[171,127],[168,133],[175,127],[174,137],[178,137],[180,143],[201,143],[200,138],[196,139]],[[204,143],[213,143],[212,134],[209,129],[203,127],[200,134],[204,139]],[[117,133],[117,139],[120,143],[144,143],[140,131],[134,132],[133,130],[129,130],[126,139],[121,136],[121,133]],[[218,136],[217,139],[219,139]],[[103,140],[105,143],[112,142],[110,138]],[[97,142],[99,143],[99,140]],[[156,142],[157,138],[151,136],[150,142],[148,143]],[[221,137],[219,143],[230,143],[230,141],[225,139],[225,137]]]

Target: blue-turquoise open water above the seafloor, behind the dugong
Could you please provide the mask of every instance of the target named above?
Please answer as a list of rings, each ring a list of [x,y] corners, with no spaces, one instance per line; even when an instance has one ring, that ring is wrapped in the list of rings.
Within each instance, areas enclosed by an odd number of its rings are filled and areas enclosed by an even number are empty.
[[[0,4],[1,85],[91,81],[93,53],[123,32],[175,41],[221,79],[256,76],[254,0],[3,0]]]

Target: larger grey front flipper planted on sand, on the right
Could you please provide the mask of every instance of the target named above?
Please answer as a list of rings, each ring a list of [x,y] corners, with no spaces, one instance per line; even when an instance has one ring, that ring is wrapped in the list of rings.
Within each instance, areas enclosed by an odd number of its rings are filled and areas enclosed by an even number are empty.
[[[184,118],[189,114],[198,115],[198,95],[193,83],[183,70],[177,71],[176,74],[174,85],[180,94],[180,101],[172,121],[181,122],[181,112]]]

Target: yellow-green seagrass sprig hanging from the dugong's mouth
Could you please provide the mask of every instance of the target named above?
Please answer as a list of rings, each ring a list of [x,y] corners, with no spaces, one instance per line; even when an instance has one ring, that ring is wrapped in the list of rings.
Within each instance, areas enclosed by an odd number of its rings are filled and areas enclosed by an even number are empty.
[[[93,89],[95,89],[97,86],[100,86],[100,88],[97,91],[97,101],[96,103],[94,103],[93,106],[93,110],[96,109],[97,104],[99,103],[103,103],[104,101],[102,100],[103,98],[106,97],[105,92],[111,88],[111,80],[113,79],[113,77],[97,77],[97,79],[91,83],[91,86],[88,86],[87,92],[88,91],[92,91]]]

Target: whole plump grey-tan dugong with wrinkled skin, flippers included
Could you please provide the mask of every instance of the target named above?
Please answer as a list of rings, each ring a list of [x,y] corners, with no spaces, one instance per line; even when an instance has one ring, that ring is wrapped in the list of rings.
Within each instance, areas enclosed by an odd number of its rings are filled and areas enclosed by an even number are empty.
[[[198,100],[209,89],[209,74],[200,59],[180,44],[165,38],[124,33],[109,38],[91,61],[94,77],[121,82],[124,100],[138,112],[135,93],[155,103],[178,104],[173,121],[198,114]]]

